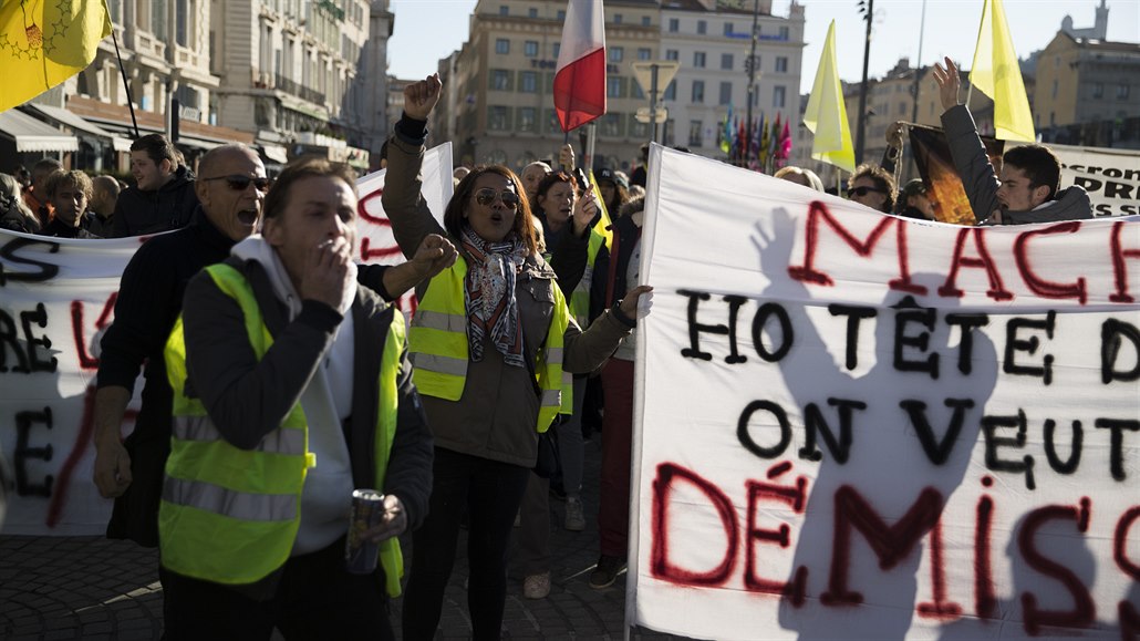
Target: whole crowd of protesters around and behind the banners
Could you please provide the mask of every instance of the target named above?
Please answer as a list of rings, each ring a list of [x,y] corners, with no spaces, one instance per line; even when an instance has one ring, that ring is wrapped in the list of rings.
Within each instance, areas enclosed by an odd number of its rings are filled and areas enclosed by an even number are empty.
[[[979,225],[1091,217],[1083,189],[1060,189],[1045,146],[1012,149],[995,170],[948,58],[935,79]],[[223,145],[195,176],[153,135],[131,146],[130,187],[51,159],[0,173],[6,229],[174,230],[145,243],[122,276],[101,346],[93,470],[115,500],[107,536],[161,549],[170,639],[274,628],[391,639],[383,603],[401,590],[404,636],[432,639],[463,527],[474,638],[497,639],[515,527],[523,595],[549,593],[551,497],[567,530],[596,516],[592,587],[626,567],[633,330],[652,290],[638,271],[648,147],[632,177],[587,176],[570,145],[519,175],[458,168],[440,224],[421,195],[440,90],[438,76],[409,84],[385,145],[383,205],[408,259],[396,267],[353,263],[355,176],[327,161],[294,161],[270,186],[254,151]],[[927,185],[898,188],[891,162],[858,167],[847,197],[934,220]],[[824,190],[807,169],[775,177]],[[420,302],[405,328],[388,301],[408,290]],[[142,406],[123,440],[140,371]],[[601,492],[586,505],[585,441],[598,427]],[[538,473],[547,440],[555,470]],[[349,532],[360,488],[383,493],[382,518]],[[378,546],[363,575],[343,565],[357,535]]]

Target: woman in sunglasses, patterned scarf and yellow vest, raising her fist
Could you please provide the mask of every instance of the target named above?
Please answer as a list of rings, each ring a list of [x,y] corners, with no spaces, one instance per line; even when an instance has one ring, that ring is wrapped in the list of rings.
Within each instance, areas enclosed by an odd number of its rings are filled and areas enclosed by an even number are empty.
[[[521,181],[502,165],[472,170],[440,226],[420,194],[418,176],[440,88],[431,76],[405,89],[383,195],[406,255],[431,233],[447,234],[459,248],[455,266],[417,287],[408,333],[435,460],[429,514],[413,538],[404,636],[435,634],[466,505],[473,638],[498,639],[511,526],[538,433],[557,413],[570,413],[570,374],[593,371],[617,348],[649,287],[630,292],[583,332],[536,249]]]

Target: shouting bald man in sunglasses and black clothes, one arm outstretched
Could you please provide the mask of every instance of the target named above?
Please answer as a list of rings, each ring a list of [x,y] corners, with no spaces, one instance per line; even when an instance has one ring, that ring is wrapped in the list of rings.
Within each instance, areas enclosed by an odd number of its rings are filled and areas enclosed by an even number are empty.
[[[182,310],[182,295],[202,268],[221,262],[230,249],[253,234],[269,190],[258,153],[244,145],[211,149],[199,164],[197,202],[190,224],[147,241],[123,271],[115,322],[101,341],[95,397],[95,484],[115,498],[108,538],[158,544],[157,514],[163,468],[170,453],[173,392],[166,380],[163,348]],[[455,249],[434,236],[413,260],[389,268],[361,266],[358,279],[386,300],[454,260]],[[441,262],[442,261],[442,262]],[[121,427],[144,367],[142,406],[135,430],[121,439]]]

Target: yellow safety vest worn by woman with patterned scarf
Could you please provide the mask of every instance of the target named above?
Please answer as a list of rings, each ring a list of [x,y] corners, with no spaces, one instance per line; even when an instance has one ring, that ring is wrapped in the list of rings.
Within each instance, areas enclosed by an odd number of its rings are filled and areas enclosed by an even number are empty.
[[[408,350],[415,368],[412,379],[422,395],[458,400],[467,380],[467,314],[463,305],[463,279],[467,263],[461,255],[450,269],[440,271],[424,292],[412,317]],[[573,376],[562,372],[562,341],[570,325],[565,298],[556,283],[554,316],[546,341],[535,355],[535,375],[543,391],[536,429],[545,432],[557,414],[573,413]]]

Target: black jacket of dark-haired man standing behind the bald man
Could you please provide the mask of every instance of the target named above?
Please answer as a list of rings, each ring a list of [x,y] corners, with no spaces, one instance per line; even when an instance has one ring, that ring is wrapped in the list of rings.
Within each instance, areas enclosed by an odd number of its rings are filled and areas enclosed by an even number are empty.
[[[181,229],[190,222],[197,206],[194,173],[185,167],[179,167],[174,177],[156,192],[144,192],[138,187],[131,187],[119,194],[111,237],[142,236]]]

